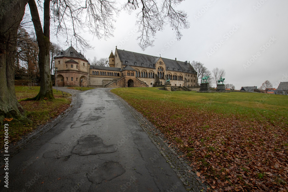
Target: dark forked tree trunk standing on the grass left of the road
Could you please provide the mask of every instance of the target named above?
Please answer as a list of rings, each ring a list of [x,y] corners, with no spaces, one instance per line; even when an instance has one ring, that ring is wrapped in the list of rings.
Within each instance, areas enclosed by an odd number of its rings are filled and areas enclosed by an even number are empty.
[[[35,0],[28,1],[30,13],[35,28],[39,46],[38,63],[40,71],[40,91],[35,100],[44,97],[54,99],[52,81],[50,75],[50,0],[44,1],[44,25],[42,30],[41,21]]]

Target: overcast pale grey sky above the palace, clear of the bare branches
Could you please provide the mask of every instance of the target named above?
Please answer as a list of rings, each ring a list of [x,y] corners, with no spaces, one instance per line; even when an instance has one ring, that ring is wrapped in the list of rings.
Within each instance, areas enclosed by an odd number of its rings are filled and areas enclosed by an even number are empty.
[[[186,0],[177,8],[187,12],[190,22],[180,41],[175,41],[174,31],[166,26],[157,32],[154,47],[142,51],[134,33],[136,12],[122,12],[113,38],[105,41],[83,34],[95,47],[84,55],[91,59],[108,57],[117,45],[153,56],[200,61],[209,70],[225,69],[224,83],[232,83],[236,89],[260,87],[265,80],[277,88],[280,81],[288,81],[287,0]],[[56,43],[52,35],[51,41]]]

